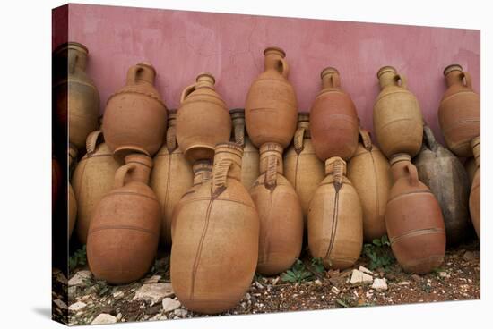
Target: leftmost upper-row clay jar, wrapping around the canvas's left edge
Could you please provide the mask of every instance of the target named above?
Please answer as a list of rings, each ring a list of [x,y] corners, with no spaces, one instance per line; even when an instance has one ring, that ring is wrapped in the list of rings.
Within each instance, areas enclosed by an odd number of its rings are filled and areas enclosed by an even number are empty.
[[[74,148],[83,148],[91,131],[98,129],[99,92],[85,72],[89,51],[77,42],[68,42],[54,53],[53,104],[59,136],[67,135]]]

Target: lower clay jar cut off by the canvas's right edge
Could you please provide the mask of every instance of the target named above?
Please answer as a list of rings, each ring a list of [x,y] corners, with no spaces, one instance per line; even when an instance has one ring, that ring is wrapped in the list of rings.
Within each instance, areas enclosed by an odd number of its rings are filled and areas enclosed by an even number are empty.
[[[471,140],[472,153],[476,160],[476,173],[471,185],[471,195],[469,196],[469,211],[474,230],[478,238],[481,239],[481,143],[480,136]]]

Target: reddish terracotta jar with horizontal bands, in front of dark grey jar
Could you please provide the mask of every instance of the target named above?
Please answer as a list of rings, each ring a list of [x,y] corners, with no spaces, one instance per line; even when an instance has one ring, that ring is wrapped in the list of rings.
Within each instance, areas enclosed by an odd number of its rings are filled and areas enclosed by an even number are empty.
[[[445,256],[445,224],[437,198],[418,179],[411,156],[390,160],[394,186],[385,209],[385,224],[395,258],[408,273],[426,274]]]

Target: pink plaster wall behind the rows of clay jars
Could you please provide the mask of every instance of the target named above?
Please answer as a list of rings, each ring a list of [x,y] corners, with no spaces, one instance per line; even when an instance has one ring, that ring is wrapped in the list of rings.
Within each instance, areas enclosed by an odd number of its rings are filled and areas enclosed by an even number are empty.
[[[229,107],[244,107],[247,89],[263,71],[266,46],[286,51],[300,111],[309,111],[319,74],[330,65],[341,72],[342,88],[370,129],[376,72],[383,65],[407,77],[439,139],[445,66],[462,64],[480,90],[479,30],[70,4],[69,40],[90,49],[88,72],[98,85],[101,111],[124,84],[127,68],[140,61],[156,67],[157,88],[169,108],[179,105],[182,89],[203,71],[214,74]]]

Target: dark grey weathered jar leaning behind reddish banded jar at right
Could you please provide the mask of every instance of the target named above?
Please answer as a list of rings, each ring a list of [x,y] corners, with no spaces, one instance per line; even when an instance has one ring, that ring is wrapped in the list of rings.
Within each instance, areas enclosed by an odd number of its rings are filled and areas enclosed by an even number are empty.
[[[414,158],[422,181],[437,198],[445,221],[446,242],[463,240],[469,227],[469,180],[463,164],[452,152],[437,143],[425,125],[423,147]]]

